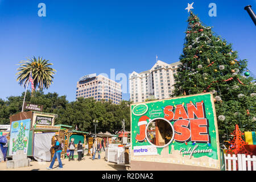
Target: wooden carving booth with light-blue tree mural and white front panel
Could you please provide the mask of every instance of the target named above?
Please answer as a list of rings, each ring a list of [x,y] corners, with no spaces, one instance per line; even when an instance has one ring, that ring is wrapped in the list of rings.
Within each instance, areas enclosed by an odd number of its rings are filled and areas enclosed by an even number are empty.
[[[36,160],[51,161],[54,150],[50,151],[52,138],[59,135],[65,140],[65,131],[55,126],[57,114],[42,113],[39,111],[20,112],[10,116],[10,141],[7,158],[11,158],[18,150],[23,150],[27,156]],[[67,143],[61,152],[64,158]]]

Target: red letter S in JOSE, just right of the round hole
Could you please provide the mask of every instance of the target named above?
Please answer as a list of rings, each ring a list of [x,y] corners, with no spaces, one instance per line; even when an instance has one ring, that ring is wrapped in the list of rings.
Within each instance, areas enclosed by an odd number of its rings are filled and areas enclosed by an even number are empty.
[[[174,130],[175,130],[174,139],[175,140],[184,142],[190,138],[190,130],[187,128],[188,125],[189,125],[189,121],[185,119],[180,119],[174,123]]]

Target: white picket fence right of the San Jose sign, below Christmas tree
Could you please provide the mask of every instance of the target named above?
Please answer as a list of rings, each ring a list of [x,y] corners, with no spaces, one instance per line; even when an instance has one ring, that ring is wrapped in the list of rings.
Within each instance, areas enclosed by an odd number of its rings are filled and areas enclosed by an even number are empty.
[[[226,171],[256,171],[256,156],[245,154],[224,155]]]

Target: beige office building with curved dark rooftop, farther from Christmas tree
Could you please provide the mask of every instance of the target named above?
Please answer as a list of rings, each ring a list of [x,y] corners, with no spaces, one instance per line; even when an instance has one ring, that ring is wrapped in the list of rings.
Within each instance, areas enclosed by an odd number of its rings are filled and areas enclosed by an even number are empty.
[[[97,76],[96,73],[86,75],[76,84],[76,100],[79,97],[93,97],[97,101],[111,100],[113,104],[119,104],[122,101],[121,84],[102,75]]]

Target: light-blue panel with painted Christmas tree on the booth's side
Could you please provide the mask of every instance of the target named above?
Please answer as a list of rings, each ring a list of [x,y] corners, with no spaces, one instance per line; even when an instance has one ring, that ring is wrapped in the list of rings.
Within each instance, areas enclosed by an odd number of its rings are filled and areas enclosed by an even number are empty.
[[[11,122],[9,155],[16,154],[16,151],[23,150],[27,154],[28,136],[30,132],[30,119]]]

